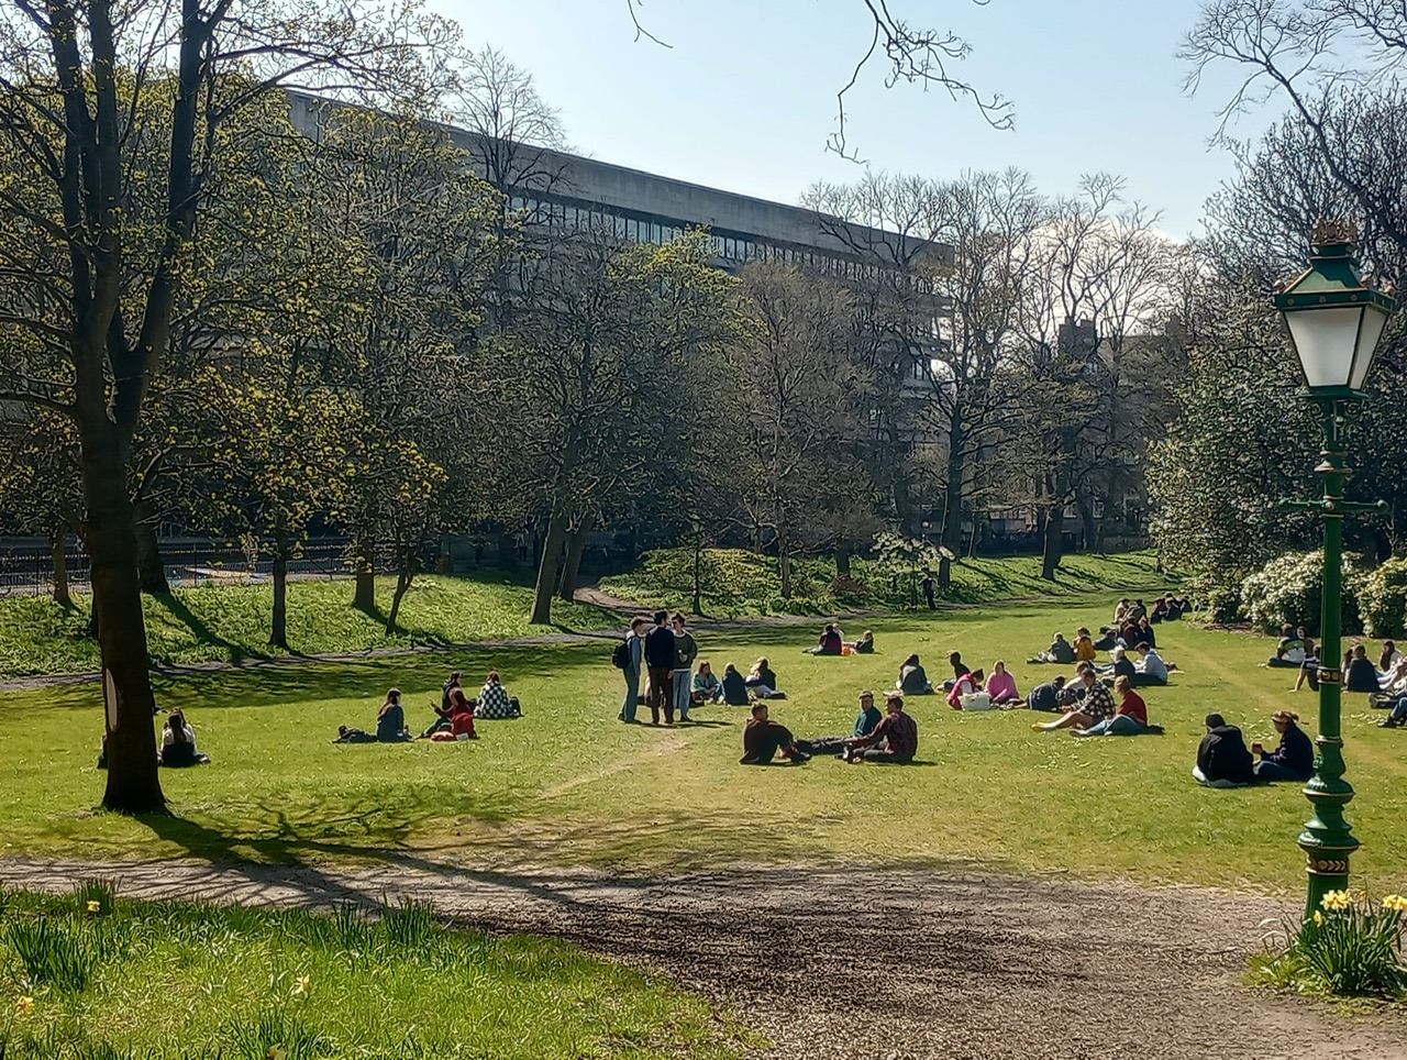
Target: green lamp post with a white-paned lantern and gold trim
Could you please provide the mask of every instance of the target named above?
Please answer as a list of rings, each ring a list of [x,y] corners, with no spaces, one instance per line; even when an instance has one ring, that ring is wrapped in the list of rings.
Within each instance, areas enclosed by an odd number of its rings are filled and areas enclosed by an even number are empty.
[[[1309,859],[1309,897],[1304,915],[1320,907],[1324,894],[1348,887],[1348,862],[1358,839],[1344,819],[1354,798],[1344,780],[1344,738],[1339,733],[1339,624],[1342,597],[1344,517],[1382,511],[1384,505],[1344,500],[1352,469],[1344,463],[1344,425],[1348,405],[1363,398],[1363,381],[1373,366],[1377,341],[1396,303],[1363,286],[1358,276],[1358,229],[1342,221],[1320,221],[1310,239],[1310,267],[1275,296],[1304,377],[1304,396],[1324,417],[1324,452],[1314,469],[1324,481],[1316,501],[1283,501],[1310,508],[1324,518],[1324,593],[1320,619],[1320,718],[1314,777],[1304,795],[1314,808],[1299,845]]]

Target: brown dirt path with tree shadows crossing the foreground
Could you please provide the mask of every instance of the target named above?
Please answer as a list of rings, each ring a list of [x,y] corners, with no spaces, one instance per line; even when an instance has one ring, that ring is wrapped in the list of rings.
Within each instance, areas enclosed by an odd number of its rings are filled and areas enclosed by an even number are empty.
[[[1238,985],[1287,907],[1059,877],[774,869],[675,878],[374,867],[0,862],[0,884],[94,876],[131,897],[326,907],[416,897],[668,974],[784,1060],[1401,1060],[1407,1016]]]

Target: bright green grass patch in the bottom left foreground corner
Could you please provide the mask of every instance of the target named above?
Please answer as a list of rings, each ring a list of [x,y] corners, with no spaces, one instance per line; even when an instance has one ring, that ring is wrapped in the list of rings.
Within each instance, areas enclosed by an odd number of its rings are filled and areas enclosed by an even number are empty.
[[[658,977],[418,907],[367,919],[91,888],[0,897],[0,1001],[6,1060],[723,1060],[751,1037]]]

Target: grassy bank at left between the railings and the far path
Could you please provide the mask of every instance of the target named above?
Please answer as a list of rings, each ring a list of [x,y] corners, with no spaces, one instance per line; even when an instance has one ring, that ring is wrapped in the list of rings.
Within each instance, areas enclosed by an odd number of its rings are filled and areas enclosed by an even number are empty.
[[[393,588],[390,579],[380,580],[377,602],[390,607]],[[142,602],[156,666],[283,655],[267,646],[269,586],[177,588]],[[0,677],[97,670],[97,642],[84,633],[90,600],[79,597],[76,604],[66,611],[46,597],[0,601]],[[288,643],[303,655],[363,652],[597,629],[615,621],[608,611],[557,601],[556,625],[535,626],[528,622],[530,604],[528,576],[425,576],[405,595],[400,631],[387,636],[384,615],[353,610],[350,581],[295,581],[288,586]]]

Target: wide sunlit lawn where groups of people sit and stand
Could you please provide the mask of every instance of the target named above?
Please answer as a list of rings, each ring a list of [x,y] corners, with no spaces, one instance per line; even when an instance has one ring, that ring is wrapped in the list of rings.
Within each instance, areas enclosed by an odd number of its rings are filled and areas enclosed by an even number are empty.
[[[791,695],[775,717],[819,736],[848,732],[858,690],[892,683],[909,652],[936,679],[950,648],[985,667],[1002,657],[1024,691],[1054,673],[1024,663],[1054,629],[1109,612],[1106,597],[1071,597],[875,619],[878,653],[841,659],[802,655],[808,628],[699,639],[719,669],[768,655]],[[847,624],[847,636],[858,632]],[[1189,770],[1207,711],[1273,743],[1271,712],[1293,705],[1313,728],[1314,697],[1289,694],[1293,674],[1258,667],[1268,639],[1180,622],[1161,626],[1159,639],[1185,670],[1147,693],[1166,735],[1076,740],[1031,732],[1026,711],[964,715],[917,698],[923,764],[909,769],[830,759],[741,767],[737,708],[712,707],[699,714],[705,724],[674,729],[619,725],[622,683],[604,642],[167,677],[158,701],[186,708],[214,764],[165,773],[176,815],[142,821],[91,809],[101,793],[96,686],[11,694],[0,711],[0,852],[297,860],[400,849],[498,869],[976,863],[1297,888],[1293,840],[1309,814],[1297,788],[1210,791]],[[339,722],[371,728],[391,684],[424,726],[447,670],[490,666],[526,717],[483,722],[477,743],[329,742]],[[1403,890],[1407,733],[1376,728],[1380,717],[1348,697],[1349,816],[1365,843],[1354,866],[1359,881]]]

